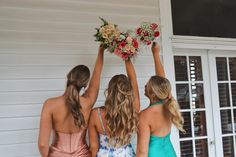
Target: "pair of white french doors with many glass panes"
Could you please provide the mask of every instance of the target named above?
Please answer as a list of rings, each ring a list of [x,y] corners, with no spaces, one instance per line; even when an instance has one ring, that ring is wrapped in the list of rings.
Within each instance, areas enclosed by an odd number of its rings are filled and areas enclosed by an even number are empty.
[[[236,52],[174,50],[181,157],[236,157]]]

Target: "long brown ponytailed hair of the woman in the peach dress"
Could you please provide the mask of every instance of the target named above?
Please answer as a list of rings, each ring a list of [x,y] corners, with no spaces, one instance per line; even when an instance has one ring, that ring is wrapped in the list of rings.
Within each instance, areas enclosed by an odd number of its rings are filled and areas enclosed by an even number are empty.
[[[67,75],[66,105],[74,117],[75,125],[79,128],[85,128],[87,125],[81,112],[79,96],[81,89],[87,86],[89,78],[90,71],[85,65],[74,67]]]

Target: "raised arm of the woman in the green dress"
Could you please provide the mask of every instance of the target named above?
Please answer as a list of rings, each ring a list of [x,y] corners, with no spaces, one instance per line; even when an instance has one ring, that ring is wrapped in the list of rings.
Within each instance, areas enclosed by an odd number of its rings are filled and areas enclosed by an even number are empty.
[[[156,75],[165,77],[165,71],[160,59],[160,46],[155,42],[152,44],[152,54],[154,58]]]

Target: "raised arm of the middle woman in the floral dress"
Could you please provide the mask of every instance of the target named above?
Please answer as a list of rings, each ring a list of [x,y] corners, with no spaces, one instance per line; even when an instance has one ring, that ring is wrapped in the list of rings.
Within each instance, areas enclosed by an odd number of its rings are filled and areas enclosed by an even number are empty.
[[[134,92],[134,102],[136,106],[136,111],[139,112],[140,110],[140,97],[139,97],[139,91],[138,91],[138,81],[137,81],[137,76],[136,72],[134,70],[133,63],[130,60],[125,61],[125,67],[126,67],[126,72],[131,80],[131,84],[133,87],[133,92]]]

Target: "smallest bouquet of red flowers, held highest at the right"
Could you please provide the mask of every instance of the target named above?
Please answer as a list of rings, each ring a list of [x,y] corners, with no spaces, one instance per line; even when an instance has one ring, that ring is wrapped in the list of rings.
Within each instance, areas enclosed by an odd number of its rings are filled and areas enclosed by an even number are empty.
[[[143,22],[136,29],[137,38],[145,45],[150,45],[160,36],[159,27],[156,23]]]

